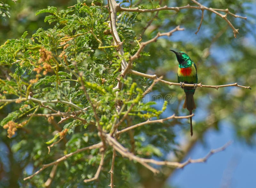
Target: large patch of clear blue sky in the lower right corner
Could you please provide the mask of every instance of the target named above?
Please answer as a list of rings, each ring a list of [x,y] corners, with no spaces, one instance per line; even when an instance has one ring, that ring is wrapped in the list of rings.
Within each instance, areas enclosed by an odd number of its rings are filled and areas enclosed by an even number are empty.
[[[226,150],[213,154],[205,163],[193,163],[176,170],[168,180],[169,184],[178,188],[255,187],[256,147],[237,141],[231,125],[226,122],[221,123],[219,132],[209,130],[204,140],[206,144],[197,143],[188,157],[202,158],[211,149],[230,140],[233,143]]]

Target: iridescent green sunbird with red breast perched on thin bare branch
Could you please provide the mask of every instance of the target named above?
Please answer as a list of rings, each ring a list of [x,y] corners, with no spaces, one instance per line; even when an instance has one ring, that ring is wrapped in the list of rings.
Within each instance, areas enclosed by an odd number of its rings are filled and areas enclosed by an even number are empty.
[[[194,93],[197,86],[197,70],[196,64],[190,59],[188,54],[184,51],[176,52],[174,50],[170,50],[175,53],[176,58],[179,62],[178,67],[178,82],[180,82],[180,87],[184,90],[186,94],[186,98],[183,104],[183,108],[187,108],[189,114],[192,114],[192,111],[196,109],[196,104],[194,100]],[[194,87],[183,87],[183,83],[194,84]],[[193,136],[193,127],[192,127],[192,116],[190,117],[190,135]]]

